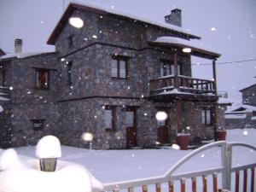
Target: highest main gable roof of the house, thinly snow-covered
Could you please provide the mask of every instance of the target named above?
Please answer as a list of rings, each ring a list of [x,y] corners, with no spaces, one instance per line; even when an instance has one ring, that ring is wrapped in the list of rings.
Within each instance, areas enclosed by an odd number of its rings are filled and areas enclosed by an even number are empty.
[[[183,34],[188,35],[189,38],[201,38],[189,31],[184,30],[183,28],[181,28],[179,26],[174,26],[174,25],[167,24],[164,22],[151,20],[151,19],[144,17],[143,15],[131,14],[131,13],[125,12],[123,10],[115,9],[113,6],[106,7],[106,6],[96,4],[96,3],[84,3],[84,2],[81,3],[81,2],[73,1],[73,2],[69,3],[64,14],[61,16],[61,20],[59,20],[57,26],[55,26],[55,30],[52,32],[52,34],[50,35],[49,40],[47,42],[48,44],[55,44],[55,38],[58,36],[62,27],[64,26],[63,23],[67,22],[68,17],[72,14],[72,10],[76,9],[76,8],[88,10],[88,11],[95,12],[97,14],[102,14],[102,15],[107,15],[107,14],[120,15],[120,16],[129,18],[131,20],[142,21],[144,23],[148,23],[148,24],[151,24],[154,26],[160,26],[160,27],[172,30],[172,31],[181,32]]]

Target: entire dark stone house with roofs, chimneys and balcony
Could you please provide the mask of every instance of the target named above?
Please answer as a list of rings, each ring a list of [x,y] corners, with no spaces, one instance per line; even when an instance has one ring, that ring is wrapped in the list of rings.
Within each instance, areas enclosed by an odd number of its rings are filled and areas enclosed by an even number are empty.
[[[74,27],[74,20],[83,26]],[[156,23],[70,3],[48,40],[54,53],[0,59],[0,80],[12,87],[9,102],[1,103],[1,147],[34,144],[47,134],[84,147],[84,132],[93,134],[96,149],[174,143],[183,131],[191,142],[214,137],[223,124],[217,118],[220,55],[179,26],[179,9]],[[22,41],[15,44],[19,52]],[[213,80],[192,77],[191,55],[212,60]],[[155,119],[158,111],[167,119]]]

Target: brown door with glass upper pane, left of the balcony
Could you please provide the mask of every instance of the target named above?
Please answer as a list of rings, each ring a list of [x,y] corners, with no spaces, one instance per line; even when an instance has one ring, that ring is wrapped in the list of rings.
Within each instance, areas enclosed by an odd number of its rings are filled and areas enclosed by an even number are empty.
[[[137,127],[136,127],[136,108],[126,108],[125,125],[126,125],[126,146],[132,148],[137,146]]]

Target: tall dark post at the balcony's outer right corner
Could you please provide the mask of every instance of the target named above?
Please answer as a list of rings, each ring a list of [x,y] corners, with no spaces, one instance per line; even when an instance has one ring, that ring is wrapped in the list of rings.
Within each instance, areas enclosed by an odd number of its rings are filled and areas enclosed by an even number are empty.
[[[217,96],[217,75],[216,75],[216,58],[212,60],[212,73],[213,73],[213,89],[214,96]],[[214,102],[213,106],[213,125],[214,125],[214,140],[217,141],[218,131],[218,103]]]

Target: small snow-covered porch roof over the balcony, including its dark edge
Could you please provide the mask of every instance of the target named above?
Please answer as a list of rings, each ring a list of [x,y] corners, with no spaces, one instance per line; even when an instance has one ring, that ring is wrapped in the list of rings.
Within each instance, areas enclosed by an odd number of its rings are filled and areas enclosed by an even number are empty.
[[[154,44],[171,44],[171,45],[175,45],[181,48],[191,48],[192,49],[192,54],[193,52],[197,53],[208,53],[209,55],[215,56],[215,57],[219,57],[220,54],[217,53],[215,50],[213,49],[209,49],[207,47],[205,47],[203,44],[201,44],[201,42],[199,42],[199,40],[186,40],[183,38],[174,38],[174,37],[160,37],[157,38],[156,40],[154,40],[154,42],[151,42]]]

